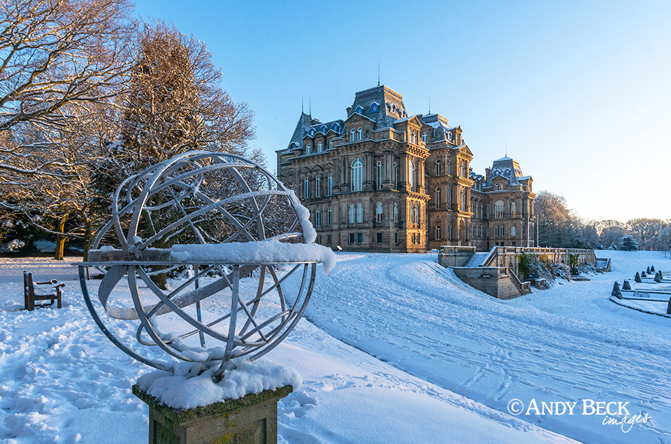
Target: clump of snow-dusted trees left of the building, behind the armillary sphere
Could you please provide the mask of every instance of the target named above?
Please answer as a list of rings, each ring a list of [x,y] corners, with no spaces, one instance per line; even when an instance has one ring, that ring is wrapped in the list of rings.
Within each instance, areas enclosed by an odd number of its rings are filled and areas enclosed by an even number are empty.
[[[129,0],[0,3],[0,243],[86,250],[124,178],[187,150],[265,162],[205,45],[132,13]]]

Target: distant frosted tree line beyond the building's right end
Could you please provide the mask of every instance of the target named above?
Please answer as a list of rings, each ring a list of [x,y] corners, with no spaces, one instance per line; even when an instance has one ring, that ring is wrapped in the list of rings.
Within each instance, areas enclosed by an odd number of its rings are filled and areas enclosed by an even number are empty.
[[[534,201],[541,247],[611,250],[671,250],[671,219],[585,220],[566,199],[542,191]]]

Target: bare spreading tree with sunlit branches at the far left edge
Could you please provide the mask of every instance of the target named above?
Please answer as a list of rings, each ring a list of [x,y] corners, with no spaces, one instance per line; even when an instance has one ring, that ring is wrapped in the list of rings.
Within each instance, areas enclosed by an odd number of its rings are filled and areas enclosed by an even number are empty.
[[[92,139],[83,129],[116,106],[134,54],[128,0],[0,4],[0,190],[6,211],[61,234],[85,213]],[[58,251],[57,251],[58,257]]]

